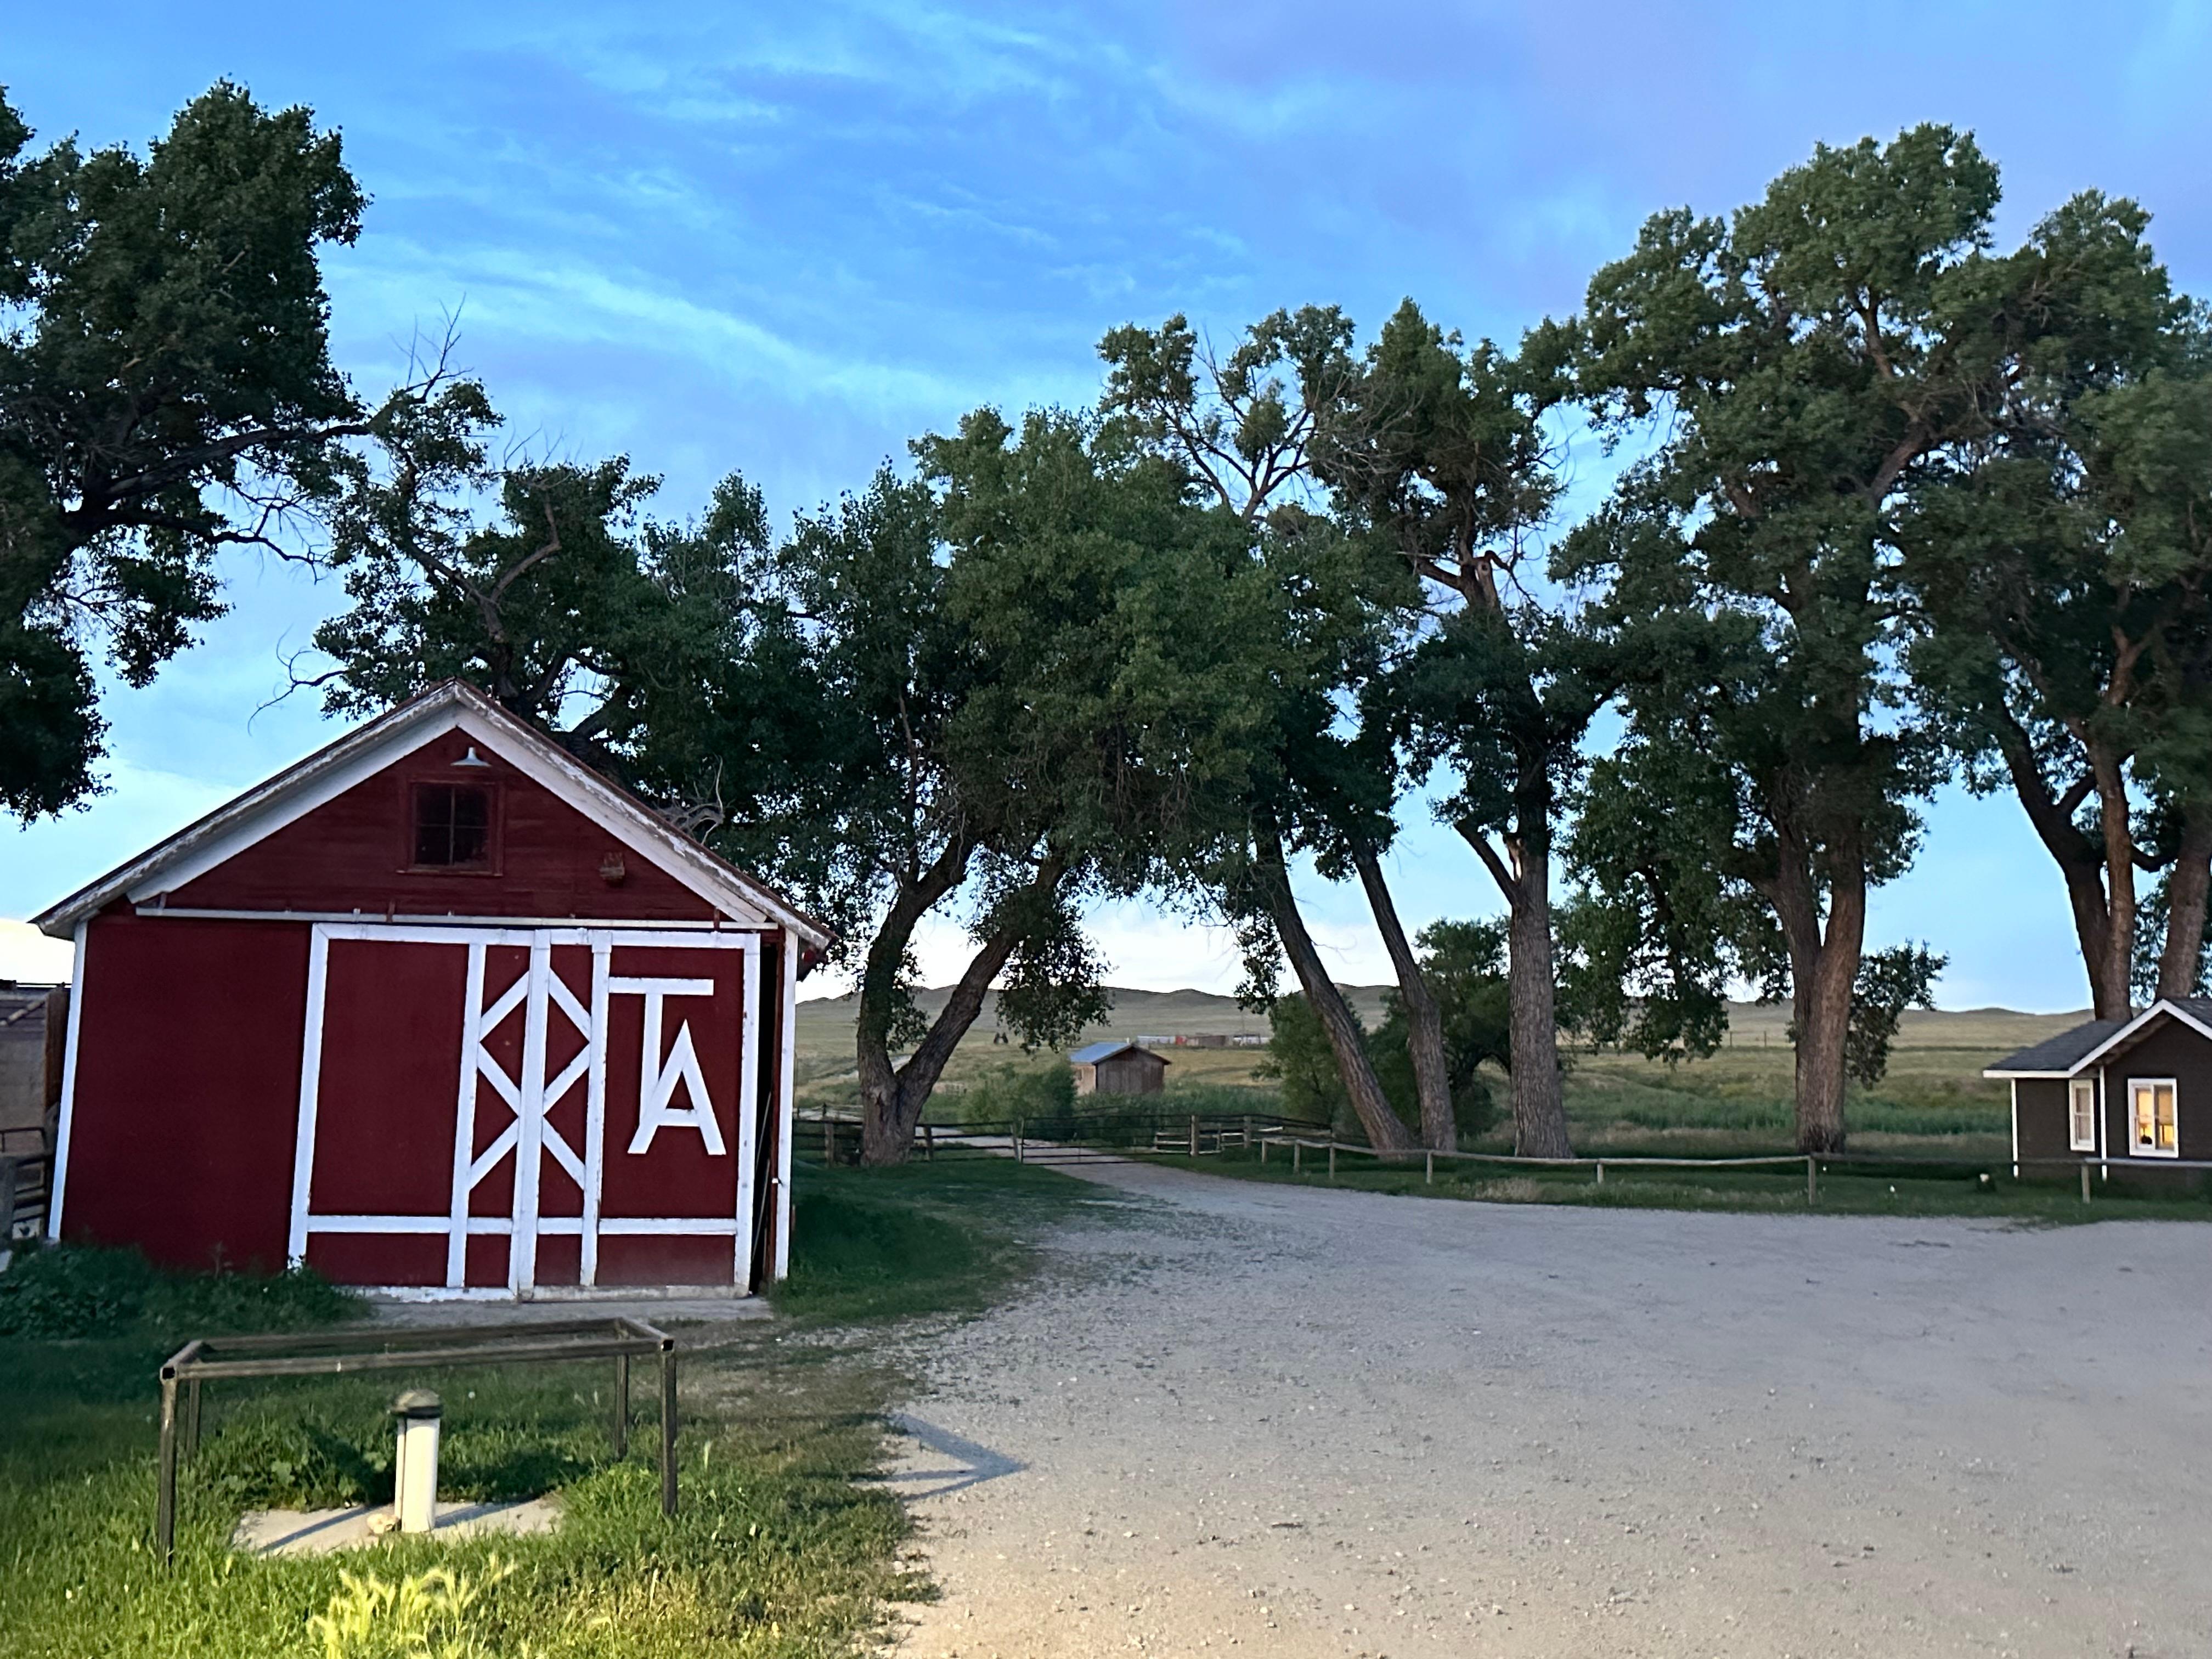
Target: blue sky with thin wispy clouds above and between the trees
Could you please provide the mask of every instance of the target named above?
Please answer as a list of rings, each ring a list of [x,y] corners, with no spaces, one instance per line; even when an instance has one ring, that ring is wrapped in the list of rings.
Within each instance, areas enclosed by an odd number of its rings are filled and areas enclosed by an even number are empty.
[[[1920,119],[2004,166],[2004,237],[2097,186],[2212,292],[2212,4],[18,7],[0,77],[53,139],[144,142],[228,75],[345,133],[374,197],[334,254],[336,347],[374,392],[460,314],[538,451],[626,451],[661,515],[730,469],[779,513],[978,403],[1088,403],[1097,336],[1276,305],[1365,323],[1413,294],[1467,334],[1571,310],[1641,219],[1728,210],[1816,142]],[[27,916],[330,737],[254,712],[332,593],[239,560],[234,613],[108,703],[111,792],[0,830]],[[1413,918],[1495,909],[1447,834]],[[1310,885],[1343,978],[1387,978],[1354,894]],[[1117,909],[1130,984],[1225,989],[1225,942]],[[2008,799],[1947,792],[1874,942],[1949,951],[1947,1006],[2084,1002],[2048,858]],[[927,967],[951,960],[940,938]],[[0,973],[7,967],[0,964]]]

